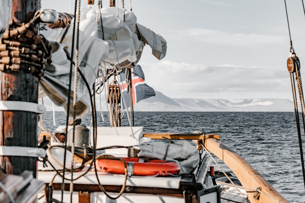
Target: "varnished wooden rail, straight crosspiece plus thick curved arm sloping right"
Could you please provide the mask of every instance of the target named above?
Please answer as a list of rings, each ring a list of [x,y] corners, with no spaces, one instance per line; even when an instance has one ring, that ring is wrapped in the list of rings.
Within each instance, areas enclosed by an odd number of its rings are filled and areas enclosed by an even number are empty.
[[[233,149],[220,142],[218,134],[203,133],[143,133],[143,137],[152,139],[179,139],[179,140],[201,140],[205,148],[221,159],[237,176],[244,187],[253,188],[246,190],[251,203],[289,203],[280,193],[278,193],[260,174],[250,166]],[[196,141],[197,142],[197,141]],[[259,199],[254,199],[253,194],[257,187],[261,187],[264,194],[260,194]],[[274,198],[274,199],[273,199]]]

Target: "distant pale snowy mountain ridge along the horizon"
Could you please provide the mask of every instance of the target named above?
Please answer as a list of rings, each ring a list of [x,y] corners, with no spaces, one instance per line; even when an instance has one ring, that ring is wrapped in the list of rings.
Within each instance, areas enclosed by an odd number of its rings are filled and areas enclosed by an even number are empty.
[[[134,106],[134,111],[294,111],[290,99],[193,99],[169,98],[161,92],[155,91],[156,96],[141,100]],[[104,98],[104,96],[102,97]],[[52,111],[52,102],[44,99],[48,111]],[[99,108],[99,105],[96,105]],[[55,111],[62,111],[62,107],[54,105]],[[106,111],[105,101],[102,110]],[[100,109],[98,109],[100,110]]]

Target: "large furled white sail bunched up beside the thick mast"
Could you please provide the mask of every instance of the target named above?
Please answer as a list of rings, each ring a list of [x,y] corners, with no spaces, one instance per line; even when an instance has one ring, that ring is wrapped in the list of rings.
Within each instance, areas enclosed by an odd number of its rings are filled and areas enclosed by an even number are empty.
[[[99,13],[102,14],[102,23]],[[70,72],[70,61],[66,52],[71,53],[73,20],[69,28],[46,28],[46,30],[41,30],[41,34],[52,45],[52,64],[46,65],[45,77],[39,81],[40,86],[56,105],[63,106],[65,110],[67,110],[68,103],[67,93]],[[81,9],[78,61],[81,61],[81,63],[79,62],[79,69],[84,74],[90,88],[97,78],[99,64],[103,69],[112,69],[118,63],[135,64],[140,59],[145,44],[153,44],[153,46],[150,46],[158,59],[165,56],[166,41],[144,26],[138,24],[136,26],[136,20],[137,18],[133,12],[125,10],[124,14],[124,10],[114,7],[102,8],[100,12],[95,12],[90,8]],[[140,27],[140,29],[137,27]],[[66,29],[68,30],[66,31]],[[62,40],[65,31],[66,35]],[[61,40],[62,43],[60,44]],[[91,91],[87,89],[84,80],[79,76],[77,82],[77,118],[85,116],[90,111],[91,97],[89,92]],[[72,115],[72,101],[70,102]]]

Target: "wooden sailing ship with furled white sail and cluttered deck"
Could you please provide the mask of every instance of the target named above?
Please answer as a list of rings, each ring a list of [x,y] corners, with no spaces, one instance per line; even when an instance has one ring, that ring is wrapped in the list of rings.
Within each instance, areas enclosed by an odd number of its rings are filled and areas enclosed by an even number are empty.
[[[14,173],[8,180],[20,180],[14,187],[18,190],[2,187],[2,200],[33,201],[40,193],[41,202],[288,202],[241,156],[221,143],[218,134],[145,133],[143,127],[134,126],[133,101],[145,98],[135,94],[138,90],[132,82],[137,77],[144,84],[137,65],[143,48],[149,45],[160,60],[166,55],[167,44],[161,35],[137,23],[131,8],[119,9],[114,4],[111,1],[109,7],[95,10],[80,8],[80,1],[76,1],[74,14],[37,9],[28,22],[11,20],[3,33],[2,75],[17,72],[39,79],[39,96],[48,96],[64,107],[67,125],[50,130],[43,124],[41,105],[3,98],[6,109],[1,111],[25,111],[26,106],[31,114],[41,114],[38,122],[43,131],[38,136],[31,132],[39,148],[17,147],[3,136],[1,166],[6,173]],[[107,92],[110,127],[99,127],[96,122],[95,95],[102,89]],[[149,90],[144,86],[143,91]],[[120,124],[123,108],[130,111],[128,127]],[[92,126],[83,126],[80,119],[90,109]],[[165,141],[152,142],[154,139]],[[196,147],[186,140],[194,141]],[[211,153],[236,177],[224,171],[215,174]],[[27,169],[34,171],[30,178],[20,178],[23,169],[15,170],[18,163],[8,158],[20,154],[31,156],[34,162],[34,170],[33,166]],[[38,172],[36,157],[40,160]],[[28,179],[36,182],[20,187]],[[34,192],[27,194],[30,198],[21,198],[33,185]]]

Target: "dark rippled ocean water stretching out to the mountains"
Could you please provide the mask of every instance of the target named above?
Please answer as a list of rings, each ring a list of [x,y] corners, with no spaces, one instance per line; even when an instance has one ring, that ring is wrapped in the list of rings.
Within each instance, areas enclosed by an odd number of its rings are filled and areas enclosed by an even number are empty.
[[[105,121],[98,112],[98,126],[109,126],[108,113],[102,114]],[[65,114],[55,112],[55,121],[54,126],[52,112],[45,114],[44,124],[51,129],[65,125]],[[294,112],[134,112],[134,121],[144,132],[217,133],[221,142],[242,156],[288,201],[305,202]],[[91,115],[81,123],[89,126]],[[122,126],[128,125],[125,114]],[[216,165],[215,170],[219,170]]]

